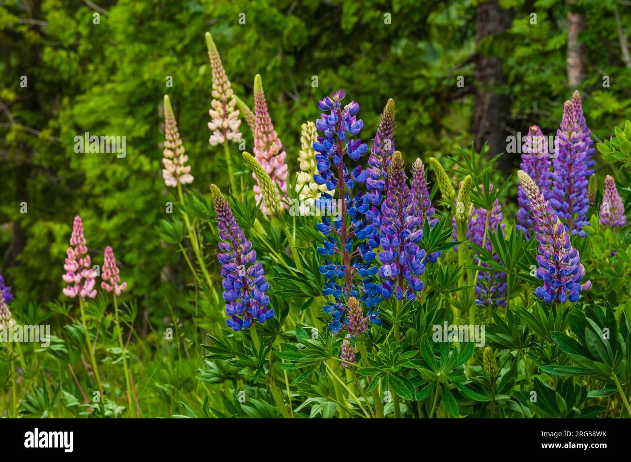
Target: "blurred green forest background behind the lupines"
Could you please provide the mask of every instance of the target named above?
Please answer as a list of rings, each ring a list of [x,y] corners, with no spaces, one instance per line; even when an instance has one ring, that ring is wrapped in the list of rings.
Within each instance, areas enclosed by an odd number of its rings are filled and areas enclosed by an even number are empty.
[[[76,214],[93,255],[114,246],[145,314],[187,297],[186,263],[155,231],[172,194],[161,175],[162,98],[173,102],[192,187],[227,191],[223,149],[208,143],[206,31],[251,106],[261,74],[292,171],[300,125],[339,88],[360,103],[365,139],[394,98],[408,163],[472,142],[495,155],[531,124],[555,135],[575,88],[597,142],[630,118],[631,1],[0,1],[0,273],[15,303],[61,297]],[[84,132],[126,136],[126,158],[74,153]],[[497,175],[519,161],[502,156]]]

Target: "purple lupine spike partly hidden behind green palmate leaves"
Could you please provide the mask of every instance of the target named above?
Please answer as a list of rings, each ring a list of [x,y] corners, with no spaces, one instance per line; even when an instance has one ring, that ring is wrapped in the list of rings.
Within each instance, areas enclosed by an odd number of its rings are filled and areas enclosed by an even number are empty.
[[[492,189],[493,185],[489,185],[489,189]],[[487,236],[485,238],[485,226],[487,226],[488,216],[488,228]],[[494,233],[498,228],[504,229],[504,225],[501,224],[504,214],[502,214],[502,206],[499,200],[495,200],[493,208],[489,211],[486,209],[475,208],[471,213],[467,224],[467,239],[491,252],[495,261],[499,261],[497,253],[493,251],[493,246],[490,240],[490,233]],[[476,265],[485,267],[487,263],[482,262],[478,255],[474,255]],[[489,304],[497,304],[499,306],[506,306],[506,274],[480,271],[478,272],[478,280],[476,280],[475,286],[476,300],[475,303],[483,306]]]

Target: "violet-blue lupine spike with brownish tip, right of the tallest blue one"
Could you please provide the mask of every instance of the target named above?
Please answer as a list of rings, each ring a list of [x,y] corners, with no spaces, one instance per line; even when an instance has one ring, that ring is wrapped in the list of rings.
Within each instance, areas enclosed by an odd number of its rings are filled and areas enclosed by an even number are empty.
[[[423,290],[419,276],[425,272],[425,250],[417,244],[423,237],[422,217],[417,213],[408,188],[399,151],[392,154],[388,176],[388,190],[380,216],[379,243],[383,250],[377,257],[381,263],[380,292],[384,298],[394,294],[401,299],[405,294],[408,300],[413,300],[415,292]]]

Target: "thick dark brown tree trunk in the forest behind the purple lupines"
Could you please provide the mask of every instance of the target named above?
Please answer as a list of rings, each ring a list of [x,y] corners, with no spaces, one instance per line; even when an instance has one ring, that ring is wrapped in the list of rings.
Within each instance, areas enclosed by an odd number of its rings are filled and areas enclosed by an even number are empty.
[[[503,33],[509,28],[509,11],[500,8],[497,0],[482,2],[476,10],[478,28],[477,42],[489,35]],[[473,111],[474,146],[480,151],[488,142],[489,156],[503,153],[506,149],[507,129],[505,122],[510,116],[510,98],[500,95],[498,88],[506,84],[502,72],[502,60],[498,57],[478,53],[475,66],[475,79],[478,85]],[[509,174],[512,159],[502,156],[496,163],[502,173]]]

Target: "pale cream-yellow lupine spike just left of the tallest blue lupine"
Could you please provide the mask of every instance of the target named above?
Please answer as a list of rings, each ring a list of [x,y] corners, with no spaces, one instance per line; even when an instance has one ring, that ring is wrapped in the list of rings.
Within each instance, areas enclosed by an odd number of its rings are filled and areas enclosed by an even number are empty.
[[[313,149],[313,144],[317,141],[315,124],[309,121],[306,124],[302,124],[301,128],[300,154],[298,154],[300,171],[296,181],[296,192],[298,193],[298,199],[302,202],[300,207],[302,211],[303,208],[309,210],[311,207],[314,207],[315,199],[318,199],[323,192],[326,192],[326,183],[319,185],[314,182],[314,175],[318,173],[315,151]],[[331,195],[334,195],[334,193],[335,190],[329,192]]]

